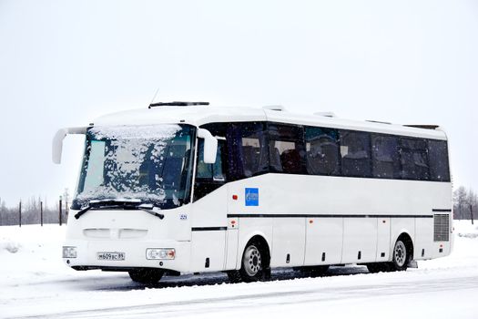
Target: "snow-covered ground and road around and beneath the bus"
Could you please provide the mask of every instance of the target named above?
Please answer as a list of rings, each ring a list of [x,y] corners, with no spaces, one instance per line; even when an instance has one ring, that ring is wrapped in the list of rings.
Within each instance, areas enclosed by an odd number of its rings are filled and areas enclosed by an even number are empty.
[[[0,227],[0,318],[478,318],[478,226],[454,227],[452,255],[404,273],[348,266],[307,278],[278,270],[267,283],[235,284],[210,273],[154,286],[67,268],[65,227]]]

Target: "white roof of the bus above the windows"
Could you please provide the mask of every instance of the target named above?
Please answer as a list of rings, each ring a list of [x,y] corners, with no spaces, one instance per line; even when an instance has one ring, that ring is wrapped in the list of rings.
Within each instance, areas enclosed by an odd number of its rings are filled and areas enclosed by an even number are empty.
[[[323,115],[292,113],[270,108],[226,108],[212,106],[165,106],[133,109],[97,118],[95,126],[154,125],[184,123],[201,126],[215,122],[270,121],[317,126],[322,128],[351,129],[382,134],[402,135],[426,139],[446,139],[442,129],[435,126],[417,127],[373,121],[359,121]],[[421,127],[421,128],[418,128]],[[426,129],[425,129],[426,128]]]

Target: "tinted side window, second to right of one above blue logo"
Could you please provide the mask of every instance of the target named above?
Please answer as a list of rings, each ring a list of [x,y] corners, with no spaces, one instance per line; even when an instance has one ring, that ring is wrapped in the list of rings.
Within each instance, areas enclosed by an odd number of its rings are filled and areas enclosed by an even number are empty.
[[[307,172],[338,175],[339,143],[335,129],[305,128]]]

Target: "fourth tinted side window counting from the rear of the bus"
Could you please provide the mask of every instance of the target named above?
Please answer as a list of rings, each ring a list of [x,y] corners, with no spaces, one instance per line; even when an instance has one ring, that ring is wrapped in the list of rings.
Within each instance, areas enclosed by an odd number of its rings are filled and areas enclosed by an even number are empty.
[[[371,177],[370,134],[340,130],[343,176]]]

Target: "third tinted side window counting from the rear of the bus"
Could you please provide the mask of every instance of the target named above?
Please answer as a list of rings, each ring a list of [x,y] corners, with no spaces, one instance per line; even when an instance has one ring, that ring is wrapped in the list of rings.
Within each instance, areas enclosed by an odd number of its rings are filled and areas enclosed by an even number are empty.
[[[401,170],[397,137],[372,134],[371,159],[373,177],[400,179]]]

